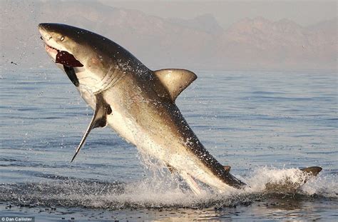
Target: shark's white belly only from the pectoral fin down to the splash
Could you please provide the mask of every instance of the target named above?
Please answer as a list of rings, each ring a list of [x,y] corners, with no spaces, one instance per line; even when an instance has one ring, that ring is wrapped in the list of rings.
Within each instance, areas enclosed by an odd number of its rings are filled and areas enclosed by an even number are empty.
[[[156,142],[153,135],[145,131],[136,121],[118,111],[113,111],[112,115],[108,116],[108,125],[126,141],[133,143],[143,156],[156,158],[165,165],[169,164],[185,177],[185,180],[187,176],[197,178],[220,192],[233,189],[210,173],[210,169],[200,164],[197,156],[191,155],[181,143],[175,142],[177,138]],[[189,186],[197,186],[197,184],[189,184]]]

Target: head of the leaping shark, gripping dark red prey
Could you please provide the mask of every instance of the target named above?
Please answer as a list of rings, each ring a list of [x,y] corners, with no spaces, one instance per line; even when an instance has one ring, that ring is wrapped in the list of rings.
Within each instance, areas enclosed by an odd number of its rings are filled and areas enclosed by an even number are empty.
[[[48,55],[74,85],[100,90],[102,79],[116,66],[119,49],[113,41],[65,24],[39,24],[39,31]]]

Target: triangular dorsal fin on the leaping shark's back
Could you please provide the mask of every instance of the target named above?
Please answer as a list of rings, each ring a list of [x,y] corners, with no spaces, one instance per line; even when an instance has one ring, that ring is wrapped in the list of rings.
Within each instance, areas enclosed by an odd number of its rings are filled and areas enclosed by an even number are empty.
[[[160,69],[154,71],[154,74],[165,86],[173,101],[197,79],[197,76],[192,71],[186,69]]]

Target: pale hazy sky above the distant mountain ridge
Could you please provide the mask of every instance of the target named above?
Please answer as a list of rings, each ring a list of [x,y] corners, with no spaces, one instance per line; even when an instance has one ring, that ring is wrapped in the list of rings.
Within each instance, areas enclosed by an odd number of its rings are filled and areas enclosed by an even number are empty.
[[[126,9],[137,9],[160,17],[190,19],[201,14],[212,14],[227,28],[245,17],[262,16],[272,21],[291,19],[302,26],[337,16],[337,1],[107,1],[103,4]]]

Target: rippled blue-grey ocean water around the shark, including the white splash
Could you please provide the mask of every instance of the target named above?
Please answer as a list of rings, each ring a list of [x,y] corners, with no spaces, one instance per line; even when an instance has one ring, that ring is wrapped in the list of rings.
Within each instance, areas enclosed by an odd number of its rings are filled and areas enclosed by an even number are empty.
[[[337,221],[337,73],[206,71],[177,104],[208,151],[250,185],[196,197],[110,128],[70,163],[93,111],[55,69],[1,70],[0,216],[36,221]],[[295,192],[265,184],[323,171]]]

